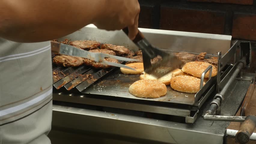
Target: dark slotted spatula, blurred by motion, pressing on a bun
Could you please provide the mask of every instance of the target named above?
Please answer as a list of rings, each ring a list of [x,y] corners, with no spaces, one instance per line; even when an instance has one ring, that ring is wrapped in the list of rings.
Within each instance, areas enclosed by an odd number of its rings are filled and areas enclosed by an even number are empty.
[[[128,28],[124,28],[123,32],[128,35]],[[133,42],[142,51],[144,71],[148,74],[159,78],[171,72],[172,70],[179,68],[182,64],[182,61],[180,61],[174,54],[164,52],[163,50],[152,46],[139,30]],[[151,64],[151,59],[155,57],[160,57],[160,59],[157,63]]]

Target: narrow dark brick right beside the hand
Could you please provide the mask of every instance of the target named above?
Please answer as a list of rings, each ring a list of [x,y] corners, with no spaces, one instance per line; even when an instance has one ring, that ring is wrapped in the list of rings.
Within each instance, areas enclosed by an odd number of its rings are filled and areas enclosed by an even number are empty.
[[[141,6],[139,13],[139,28],[152,28],[153,7]]]

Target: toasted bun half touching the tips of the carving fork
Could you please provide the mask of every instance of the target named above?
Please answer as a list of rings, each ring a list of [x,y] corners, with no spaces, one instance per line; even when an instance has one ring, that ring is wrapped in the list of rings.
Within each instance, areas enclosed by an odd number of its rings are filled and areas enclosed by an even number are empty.
[[[121,73],[123,73],[123,74],[141,74],[144,71],[142,62],[126,64],[126,66],[132,67],[135,70],[130,70],[130,69],[121,67],[120,68]]]

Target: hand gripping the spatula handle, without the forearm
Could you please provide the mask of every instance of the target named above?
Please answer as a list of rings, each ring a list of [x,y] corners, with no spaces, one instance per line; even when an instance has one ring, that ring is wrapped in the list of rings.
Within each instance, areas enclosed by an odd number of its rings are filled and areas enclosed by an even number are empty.
[[[106,0],[102,5],[105,8],[99,8],[101,15],[93,24],[105,30],[120,30],[128,26],[128,36],[133,40],[138,33],[138,0]]]

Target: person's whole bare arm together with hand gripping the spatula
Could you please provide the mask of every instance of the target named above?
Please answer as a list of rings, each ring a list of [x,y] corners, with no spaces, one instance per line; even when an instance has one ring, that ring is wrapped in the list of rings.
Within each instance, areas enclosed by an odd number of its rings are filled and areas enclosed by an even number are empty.
[[[16,42],[50,41],[94,23],[99,29],[128,26],[138,32],[138,0],[0,0],[0,37]]]

